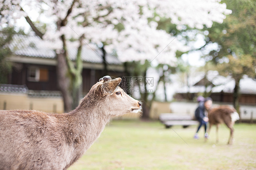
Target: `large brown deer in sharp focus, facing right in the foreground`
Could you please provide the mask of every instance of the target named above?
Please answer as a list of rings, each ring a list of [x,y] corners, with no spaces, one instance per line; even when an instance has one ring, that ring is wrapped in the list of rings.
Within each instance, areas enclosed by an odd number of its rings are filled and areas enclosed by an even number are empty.
[[[101,78],[69,113],[1,110],[0,169],[67,169],[111,118],[141,110],[141,103],[118,87],[120,82]]]

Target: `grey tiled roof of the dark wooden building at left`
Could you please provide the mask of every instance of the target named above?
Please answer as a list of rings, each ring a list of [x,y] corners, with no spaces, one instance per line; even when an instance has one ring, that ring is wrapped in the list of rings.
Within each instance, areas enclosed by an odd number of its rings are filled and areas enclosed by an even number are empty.
[[[14,35],[13,43],[10,45],[11,50],[15,55],[38,57],[38,58],[55,58],[55,52],[44,46],[43,40],[35,35]],[[68,55],[71,60],[74,60],[77,55],[76,48],[68,48]],[[91,49],[88,45],[82,47],[81,58],[88,63],[103,63],[102,51],[99,49]],[[120,65],[121,62],[117,57],[106,54],[108,64]]]

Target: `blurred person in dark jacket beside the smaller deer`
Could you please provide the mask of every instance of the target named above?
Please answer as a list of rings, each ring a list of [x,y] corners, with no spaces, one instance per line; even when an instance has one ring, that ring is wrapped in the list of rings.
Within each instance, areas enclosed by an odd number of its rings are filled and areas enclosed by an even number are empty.
[[[207,110],[212,107],[212,104],[213,104],[213,101],[210,97],[205,98],[205,100],[203,100],[201,98],[201,100],[199,101],[198,107],[196,108],[196,111],[195,111],[195,117],[199,121],[200,124],[197,128],[194,139],[199,139],[198,131],[201,128],[202,125],[205,126],[205,138],[208,138],[208,133],[206,132],[207,122],[209,121],[209,119],[207,117],[207,114],[208,114]]]

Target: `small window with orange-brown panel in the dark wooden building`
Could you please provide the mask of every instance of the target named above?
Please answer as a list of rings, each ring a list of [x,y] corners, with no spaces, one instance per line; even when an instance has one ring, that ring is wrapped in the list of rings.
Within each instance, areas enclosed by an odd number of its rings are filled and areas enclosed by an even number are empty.
[[[27,74],[28,81],[47,82],[49,80],[48,69],[30,67]]]

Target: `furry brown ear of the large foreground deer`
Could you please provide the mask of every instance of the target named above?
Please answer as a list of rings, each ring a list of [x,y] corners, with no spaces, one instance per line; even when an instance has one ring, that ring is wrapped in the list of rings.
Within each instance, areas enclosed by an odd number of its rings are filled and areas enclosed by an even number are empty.
[[[117,86],[121,82],[121,78],[116,78],[110,81],[103,82],[98,86],[98,92],[100,93],[100,96],[110,95],[113,94]]]

